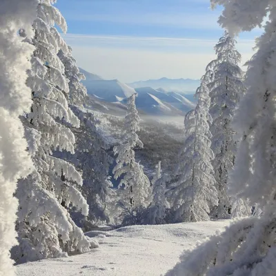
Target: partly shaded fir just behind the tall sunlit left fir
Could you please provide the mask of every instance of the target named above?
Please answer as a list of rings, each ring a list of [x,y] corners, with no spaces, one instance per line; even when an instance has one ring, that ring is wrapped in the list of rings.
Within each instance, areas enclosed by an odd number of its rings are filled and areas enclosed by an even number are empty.
[[[84,230],[90,230],[96,223],[110,222],[110,197],[113,192],[108,174],[113,159],[108,155],[109,146],[97,128],[100,121],[90,112],[81,110],[88,95],[86,87],[81,83],[85,76],[79,71],[72,57],[72,49],[68,47],[67,54],[59,50],[58,57],[64,65],[65,75],[69,80],[70,108],[80,121],[79,128],[71,128],[76,138],[75,153],[72,155],[67,152],[66,155],[82,171],[81,191],[89,205],[88,216],[75,212],[72,215]]]

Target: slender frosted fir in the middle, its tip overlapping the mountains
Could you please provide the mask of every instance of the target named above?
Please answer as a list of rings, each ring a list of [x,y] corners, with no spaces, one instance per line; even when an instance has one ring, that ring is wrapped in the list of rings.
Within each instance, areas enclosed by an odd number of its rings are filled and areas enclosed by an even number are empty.
[[[137,135],[140,117],[135,106],[133,94],[128,98],[128,112],[125,117],[124,138],[122,144],[114,147],[117,155],[116,166],[113,169],[115,179],[122,176],[119,184],[121,202],[128,210],[136,207],[147,207],[150,203],[150,181],[144,174],[143,166],[135,161],[135,148],[143,148],[143,143]]]

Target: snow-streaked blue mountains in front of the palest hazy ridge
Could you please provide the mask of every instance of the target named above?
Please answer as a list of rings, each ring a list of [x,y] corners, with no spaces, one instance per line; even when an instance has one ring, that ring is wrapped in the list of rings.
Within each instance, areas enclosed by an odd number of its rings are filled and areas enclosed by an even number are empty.
[[[152,87],[132,88],[117,79],[105,80],[81,69],[86,76],[83,84],[90,95],[88,103],[94,110],[122,115],[126,112],[126,98],[137,92],[136,106],[140,113],[146,115],[184,115],[195,108],[193,95],[181,95],[177,92],[166,92],[165,88]],[[188,99],[189,98],[189,99]],[[192,100],[191,100],[192,99]]]

